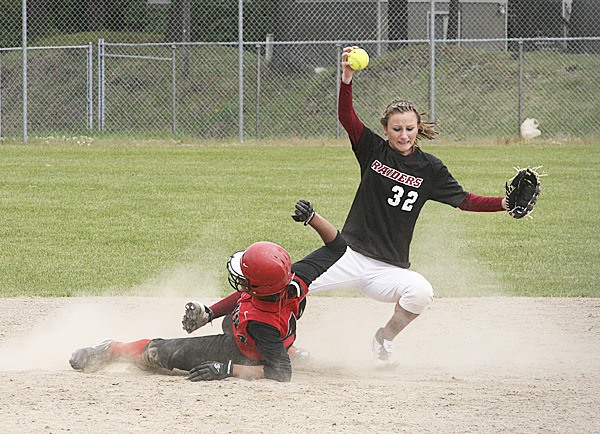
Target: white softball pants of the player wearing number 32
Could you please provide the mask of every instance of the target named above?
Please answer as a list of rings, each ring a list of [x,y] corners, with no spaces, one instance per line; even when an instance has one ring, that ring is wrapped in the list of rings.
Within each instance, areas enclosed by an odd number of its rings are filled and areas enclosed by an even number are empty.
[[[358,289],[374,300],[399,303],[414,314],[421,314],[433,300],[431,283],[416,271],[371,259],[350,247],[309,287],[313,293],[336,289]]]

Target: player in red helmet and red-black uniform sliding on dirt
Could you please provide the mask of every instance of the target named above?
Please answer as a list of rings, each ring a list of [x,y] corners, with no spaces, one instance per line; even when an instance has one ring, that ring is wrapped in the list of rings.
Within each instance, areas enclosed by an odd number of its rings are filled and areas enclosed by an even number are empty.
[[[285,249],[266,241],[234,253],[227,269],[236,292],[215,307],[217,312],[231,314],[228,332],[129,343],[107,340],[76,350],[70,360],[73,369],[94,372],[113,361],[130,360],[146,367],[189,371],[192,381],[226,377],[290,381],[287,351],[296,338],[296,320],[304,310],[308,286],[346,250],[346,242],[333,225],[315,213],[309,202],[298,203],[301,211],[296,211],[296,219],[310,224],[325,245],[294,264]],[[191,332],[206,324],[208,312],[212,319],[213,312],[206,306],[188,303],[184,328]]]

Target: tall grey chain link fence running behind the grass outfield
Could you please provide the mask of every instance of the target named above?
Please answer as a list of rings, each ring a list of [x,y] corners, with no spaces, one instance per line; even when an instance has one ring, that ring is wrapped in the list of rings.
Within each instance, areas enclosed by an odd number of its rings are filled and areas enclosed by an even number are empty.
[[[347,45],[371,55],[354,94],[373,127],[404,98],[455,140],[525,118],[600,136],[598,0],[4,2],[0,137],[336,138]]]

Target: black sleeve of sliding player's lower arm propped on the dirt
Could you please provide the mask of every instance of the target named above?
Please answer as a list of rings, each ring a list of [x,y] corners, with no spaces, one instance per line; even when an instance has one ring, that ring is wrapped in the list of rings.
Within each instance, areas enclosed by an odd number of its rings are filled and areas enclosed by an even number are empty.
[[[292,379],[292,363],[279,330],[258,321],[249,321],[248,334],[256,342],[256,348],[264,359],[265,378],[288,382]]]

